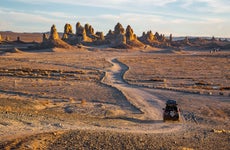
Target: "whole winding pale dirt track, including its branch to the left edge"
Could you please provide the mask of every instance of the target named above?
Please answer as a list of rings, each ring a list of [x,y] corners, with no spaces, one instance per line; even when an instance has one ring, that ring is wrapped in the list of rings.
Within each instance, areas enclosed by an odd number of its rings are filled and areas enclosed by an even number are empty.
[[[122,64],[115,58],[111,58],[108,60],[113,66],[106,70],[106,74],[102,80],[104,84],[110,85],[112,87],[117,88],[120,90],[127,98],[127,100],[133,105],[133,113],[125,114],[124,116],[115,116],[114,118],[105,118],[103,121],[108,121],[107,125],[102,126],[95,126],[93,124],[85,124],[85,123],[76,123],[76,121],[69,122],[68,118],[63,121],[54,118],[47,118],[49,121],[48,125],[40,126],[40,123],[37,120],[43,120],[43,116],[37,116],[38,118],[35,120],[30,120],[30,124],[34,124],[37,126],[31,126],[31,131],[28,130],[27,125],[19,126],[17,123],[12,124],[11,126],[6,126],[7,130],[12,130],[11,132],[14,133],[14,137],[12,137],[12,133],[7,133],[4,131],[5,137],[0,137],[0,141],[4,139],[14,139],[15,137],[21,138],[21,140],[15,139],[13,144],[9,144],[9,146],[21,145],[23,141],[26,143],[28,141],[37,141],[36,134],[41,133],[44,134],[44,137],[41,141],[46,141],[46,133],[45,132],[53,132],[53,131],[72,131],[72,130],[96,130],[96,131],[116,131],[118,133],[171,133],[176,131],[181,131],[186,129],[186,124],[181,122],[169,122],[164,123],[162,119],[162,108],[165,106],[165,101],[167,99],[159,98],[157,95],[152,94],[151,92],[154,89],[143,88],[139,86],[133,86],[126,83],[123,79],[124,73],[129,69],[126,65]],[[138,114],[136,112],[139,112]],[[26,116],[24,116],[24,119]],[[106,120],[108,119],[108,120]],[[111,119],[111,122],[109,122]],[[123,121],[125,120],[125,121]],[[99,123],[100,124],[99,120]],[[58,122],[58,123],[57,123]],[[53,126],[55,125],[55,126]],[[17,126],[17,128],[15,127]],[[61,127],[56,127],[61,126]],[[20,130],[19,130],[20,127]],[[35,135],[33,138],[25,138],[23,135],[32,136]],[[9,136],[9,137],[8,137]],[[26,136],[26,137],[27,137]],[[52,142],[53,140],[50,139]],[[20,141],[21,144],[20,144]],[[42,146],[43,143],[40,141],[40,145]],[[1,144],[0,144],[1,146]],[[22,144],[23,146],[23,144]]]

